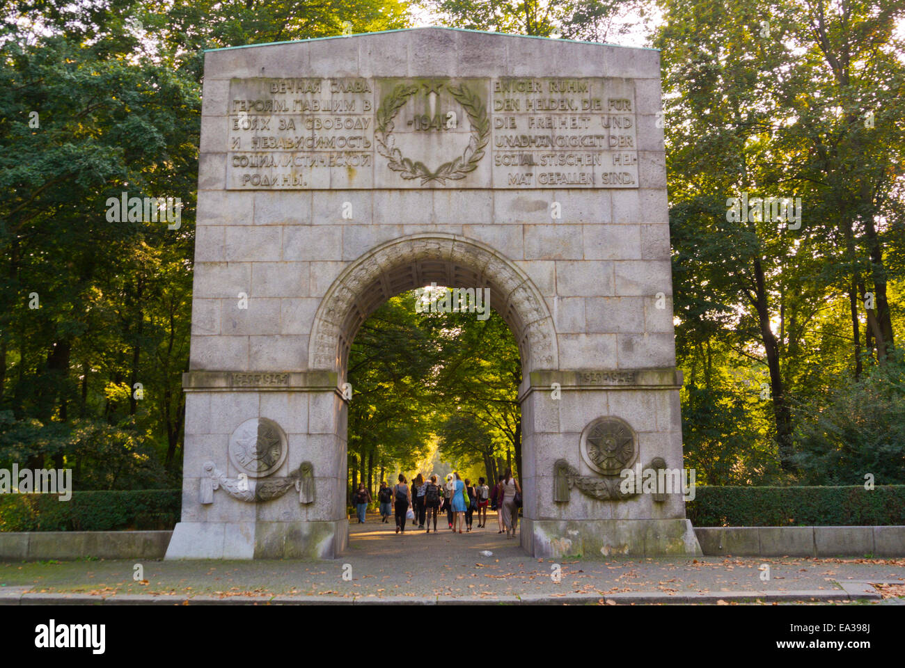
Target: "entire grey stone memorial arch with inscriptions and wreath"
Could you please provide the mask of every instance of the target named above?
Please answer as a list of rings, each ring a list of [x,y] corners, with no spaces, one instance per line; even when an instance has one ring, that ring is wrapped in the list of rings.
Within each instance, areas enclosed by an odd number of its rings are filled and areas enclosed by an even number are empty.
[[[681,489],[622,485],[682,469],[660,111],[645,49],[420,28],[207,52],[167,558],[345,549],[349,346],[432,282],[488,289],[519,343],[523,549],[700,554]]]

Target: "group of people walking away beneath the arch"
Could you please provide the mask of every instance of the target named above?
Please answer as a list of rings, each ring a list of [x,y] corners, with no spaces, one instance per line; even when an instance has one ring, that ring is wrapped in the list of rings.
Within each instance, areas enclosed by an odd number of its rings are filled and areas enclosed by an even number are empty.
[[[371,494],[362,483],[355,494],[358,523],[365,521],[367,504],[371,502]],[[491,488],[485,484],[483,478],[478,478],[478,483],[472,485],[469,479],[462,480],[458,472],[446,476],[445,482],[440,484],[436,475],[425,480],[421,473],[415,476],[409,485],[405,475],[399,474],[399,480],[393,487],[386,482],[380,483],[380,491],[377,492],[377,501],[380,503],[381,520],[386,523],[392,514],[395,517],[395,532],[405,533],[406,520],[412,520],[412,525],[419,530],[431,532],[437,531],[437,518],[445,511],[447,525],[453,532],[462,533],[471,531],[474,522],[474,514],[478,515],[478,528],[487,526],[487,510],[499,510],[497,521],[500,530],[506,531],[507,538],[514,538],[519,523],[519,507],[521,506],[521,487],[519,481],[507,470],[500,475],[500,480]]]

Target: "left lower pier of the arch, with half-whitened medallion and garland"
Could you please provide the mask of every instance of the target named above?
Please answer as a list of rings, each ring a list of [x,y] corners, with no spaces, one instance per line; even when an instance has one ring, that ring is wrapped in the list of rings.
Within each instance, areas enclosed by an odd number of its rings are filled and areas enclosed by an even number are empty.
[[[167,559],[337,558],[346,549],[347,400],[336,382],[328,373],[186,374],[182,521]],[[234,443],[252,418],[278,425],[282,448],[279,468],[258,478]],[[302,464],[308,496],[290,477]]]

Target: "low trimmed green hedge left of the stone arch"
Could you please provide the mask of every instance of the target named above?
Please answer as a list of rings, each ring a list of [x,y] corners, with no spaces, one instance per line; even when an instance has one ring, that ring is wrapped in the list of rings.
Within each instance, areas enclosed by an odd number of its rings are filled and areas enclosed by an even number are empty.
[[[0,531],[169,530],[181,511],[180,490],[2,494]]]

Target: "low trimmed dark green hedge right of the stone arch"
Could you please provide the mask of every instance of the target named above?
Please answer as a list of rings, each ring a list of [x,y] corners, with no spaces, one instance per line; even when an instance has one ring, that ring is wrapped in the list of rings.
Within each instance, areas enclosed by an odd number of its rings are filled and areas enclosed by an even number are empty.
[[[838,527],[905,524],[905,485],[700,486],[685,512],[695,527]]]

